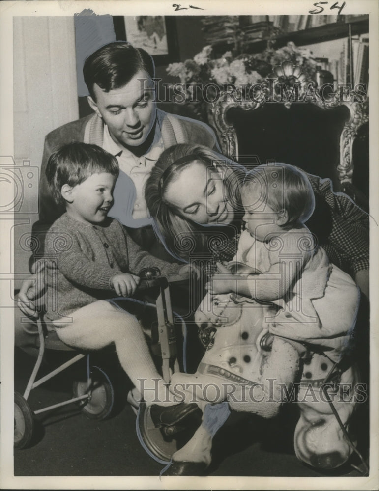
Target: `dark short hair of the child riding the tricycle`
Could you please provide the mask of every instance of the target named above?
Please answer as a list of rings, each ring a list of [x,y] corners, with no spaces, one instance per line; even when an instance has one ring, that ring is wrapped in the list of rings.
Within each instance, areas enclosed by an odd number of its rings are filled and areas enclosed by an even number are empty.
[[[46,166],[47,182],[58,205],[64,204],[60,193],[64,184],[73,188],[92,174],[102,172],[118,176],[116,157],[97,145],[82,142],[72,142],[60,147],[49,157]]]

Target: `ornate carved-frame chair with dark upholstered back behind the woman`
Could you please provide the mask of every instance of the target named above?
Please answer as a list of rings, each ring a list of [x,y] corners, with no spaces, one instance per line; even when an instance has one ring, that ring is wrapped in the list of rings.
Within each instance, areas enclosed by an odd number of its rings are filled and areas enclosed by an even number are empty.
[[[250,92],[229,87],[209,104],[208,119],[225,155],[247,166],[285,162],[330,178],[334,191],[367,210],[366,95],[332,90],[320,90],[285,62]]]

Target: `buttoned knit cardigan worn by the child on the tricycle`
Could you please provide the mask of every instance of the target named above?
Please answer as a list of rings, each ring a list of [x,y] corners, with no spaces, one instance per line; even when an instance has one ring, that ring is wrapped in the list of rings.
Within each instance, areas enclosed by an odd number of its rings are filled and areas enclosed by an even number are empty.
[[[156,266],[164,275],[180,265],[157,259],[142,250],[112,218],[91,225],[65,213],[46,236],[48,264],[46,315],[48,320],[68,316],[96,300],[116,297],[110,279],[117,273],[137,274]]]

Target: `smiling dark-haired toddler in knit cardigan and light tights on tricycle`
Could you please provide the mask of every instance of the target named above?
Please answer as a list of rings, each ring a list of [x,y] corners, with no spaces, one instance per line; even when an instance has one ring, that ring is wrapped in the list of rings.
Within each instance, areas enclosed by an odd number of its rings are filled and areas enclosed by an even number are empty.
[[[47,180],[66,212],[53,223],[45,241],[45,320],[74,348],[98,350],[115,343],[122,368],[146,404],[171,406],[179,401],[158,374],[140,323],[106,299],[132,295],[139,283],[136,273],[143,267],[177,274],[180,265],[150,256],[107,216],[117,175],[116,158],[96,145],[71,143],[49,159]],[[186,412],[189,405],[179,406]]]

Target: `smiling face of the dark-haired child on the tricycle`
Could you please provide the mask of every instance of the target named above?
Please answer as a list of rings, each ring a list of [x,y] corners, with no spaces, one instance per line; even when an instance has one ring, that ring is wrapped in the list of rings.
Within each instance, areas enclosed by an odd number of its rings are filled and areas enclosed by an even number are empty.
[[[101,223],[113,204],[116,177],[108,172],[92,174],[71,190],[67,213],[85,223]]]

